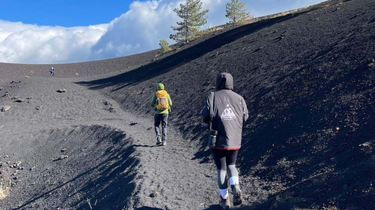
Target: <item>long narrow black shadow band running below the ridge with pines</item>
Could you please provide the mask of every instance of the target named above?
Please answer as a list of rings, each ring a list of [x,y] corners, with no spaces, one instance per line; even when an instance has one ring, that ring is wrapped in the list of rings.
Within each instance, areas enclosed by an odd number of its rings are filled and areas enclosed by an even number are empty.
[[[311,10],[315,10],[311,9]],[[146,81],[150,78],[156,77],[161,74],[165,74],[175,68],[180,67],[196,58],[201,57],[202,55],[212,52],[213,50],[231,43],[241,37],[255,33],[262,28],[274,25],[283,21],[286,21],[291,18],[295,18],[304,13],[310,12],[311,10],[288,14],[285,16],[280,16],[272,19],[266,19],[252,24],[243,25],[232,30],[226,31],[222,34],[215,35],[212,38],[209,38],[205,41],[197,43],[191,47],[188,47],[184,50],[181,50],[173,55],[170,55],[166,58],[163,58],[159,61],[152,62],[150,64],[144,65],[135,70],[124,72],[112,77],[92,80],[92,81],[80,81],[76,82],[84,86],[89,86],[90,89],[97,90],[109,86],[117,86],[112,90],[112,92],[121,89],[127,86],[133,86],[143,81]]]

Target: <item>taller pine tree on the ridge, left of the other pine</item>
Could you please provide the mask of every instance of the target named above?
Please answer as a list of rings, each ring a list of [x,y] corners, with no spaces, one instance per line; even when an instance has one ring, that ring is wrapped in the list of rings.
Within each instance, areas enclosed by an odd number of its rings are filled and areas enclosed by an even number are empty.
[[[180,9],[175,8],[173,11],[183,19],[181,22],[177,22],[178,26],[171,26],[176,34],[171,34],[169,38],[180,42],[189,42],[198,31],[199,27],[207,23],[207,17],[204,15],[208,12],[208,9],[200,11],[202,9],[202,2],[200,0],[186,0],[186,4],[180,4]]]

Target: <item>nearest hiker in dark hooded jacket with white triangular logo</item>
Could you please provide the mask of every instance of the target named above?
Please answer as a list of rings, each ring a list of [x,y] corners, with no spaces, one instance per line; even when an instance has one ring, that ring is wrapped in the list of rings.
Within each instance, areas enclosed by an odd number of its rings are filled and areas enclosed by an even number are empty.
[[[213,102],[211,103],[212,98]],[[213,105],[213,112],[211,111],[213,116],[210,116],[211,104]],[[217,183],[221,198],[219,205],[223,209],[229,209],[226,173],[228,173],[231,183],[233,205],[237,206],[242,203],[242,192],[235,164],[238,151],[241,148],[242,126],[249,118],[245,100],[233,91],[231,74],[217,74],[216,90],[208,96],[201,114],[204,122],[211,123],[211,129],[217,131],[216,143],[211,146],[211,151],[217,168]]]

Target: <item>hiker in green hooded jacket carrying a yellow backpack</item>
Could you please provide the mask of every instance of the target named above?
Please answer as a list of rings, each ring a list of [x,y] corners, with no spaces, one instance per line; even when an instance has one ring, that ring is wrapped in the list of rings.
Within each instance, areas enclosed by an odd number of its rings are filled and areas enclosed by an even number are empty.
[[[154,127],[156,133],[156,145],[166,145],[166,125],[168,124],[168,113],[171,111],[171,96],[164,90],[162,83],[157,84],[157,91],[152,96],[150,106],[155,109]],[[162,135],[160,135],[160,123],[162,123]]]

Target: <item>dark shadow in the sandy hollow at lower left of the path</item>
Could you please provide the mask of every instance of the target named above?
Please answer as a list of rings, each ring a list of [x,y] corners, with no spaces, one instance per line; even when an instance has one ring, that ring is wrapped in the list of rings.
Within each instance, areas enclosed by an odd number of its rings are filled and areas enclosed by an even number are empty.
[[[95,200],[98,201],[95,209],[123,209],[127,206],[128,198],[135,190],[132,180],[136,176],[134,168],[139,164],[139,160],[134,157],[134,148],[130,144],[131,138],[126,138],[126,134],[120,131],[112,132],[95,144],[99,145],[105,139],[110,139],[113,145],[101,154],[104,161],[42,194],[35,194],[24,204],[12,210],[23,209],[34,202],[43,203],[51,194],[58,193],[59,189],[69,194],[61,200],[61,205],[65,207],[86,210],[89,208],[86,198],[91,200],[92,206],[96,203]],[[69,188],[72,185],[74,190]],[[66,191],[66,188],[70,191]],[[78,193],[83,199],[72,202],[72,198]]]

